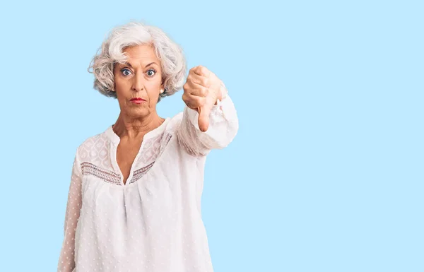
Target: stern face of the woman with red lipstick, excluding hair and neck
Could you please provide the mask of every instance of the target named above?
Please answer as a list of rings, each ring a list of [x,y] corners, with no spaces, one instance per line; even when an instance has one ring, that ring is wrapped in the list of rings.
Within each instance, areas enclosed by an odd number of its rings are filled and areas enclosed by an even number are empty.
[[[151,45],[126,47],[126,64],[114,67],[114,90],[121,111],[134,118],[146,117],[156,111],[160,90],[163,90],[160,62]],[[139,103],[131,99],[141,97]]]

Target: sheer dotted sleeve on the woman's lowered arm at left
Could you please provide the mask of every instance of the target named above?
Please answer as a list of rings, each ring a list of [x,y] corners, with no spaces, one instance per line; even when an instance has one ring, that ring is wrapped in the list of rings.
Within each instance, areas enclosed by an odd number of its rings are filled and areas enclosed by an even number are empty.
[[[59,255],[57,272],[72,272],[75,268],[75,231],[81,211],[81,168],[78,155],[73,160],[71,182],[69,185],[68,200],[66,203],[64,220],[64,240]]]

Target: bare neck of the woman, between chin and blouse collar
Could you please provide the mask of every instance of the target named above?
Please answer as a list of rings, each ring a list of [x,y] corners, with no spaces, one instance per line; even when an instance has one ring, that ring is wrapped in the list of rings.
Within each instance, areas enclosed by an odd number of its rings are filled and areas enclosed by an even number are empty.
[[[119,138],[126,138],[131,141],[143,138],[144,135],[156,129],[164,121],[165,119],[159,117],[156,112],[152,112],[146,117],[129,117],[121,112],[112,129]]]

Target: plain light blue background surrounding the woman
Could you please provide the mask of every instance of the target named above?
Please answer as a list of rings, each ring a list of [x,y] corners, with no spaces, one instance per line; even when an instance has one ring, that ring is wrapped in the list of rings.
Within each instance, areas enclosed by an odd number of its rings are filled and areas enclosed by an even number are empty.
[[[422,3],[1,4],[0,270],[56,271],[76,148],[119,114],[86,69],[134,19],[237,107],[239,133],[206,166],[216,272],[424,271]]]

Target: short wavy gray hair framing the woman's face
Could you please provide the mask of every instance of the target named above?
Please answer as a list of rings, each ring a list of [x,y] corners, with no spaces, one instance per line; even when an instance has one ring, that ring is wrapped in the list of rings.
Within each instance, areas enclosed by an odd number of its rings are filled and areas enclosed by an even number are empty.
[[[182,48],[160,28],[131,21],[110,30],[90,61],[87,71],[94,73],[95,90],[107,97],[117,98],[116,92],[112,91],[114,66],[117,63],[124,64],[127,57],[123,50],[134,45],[153,45],[156,57],[160,60],[165,91],[160,94],[159,100],[182,89],[187,69]]]

